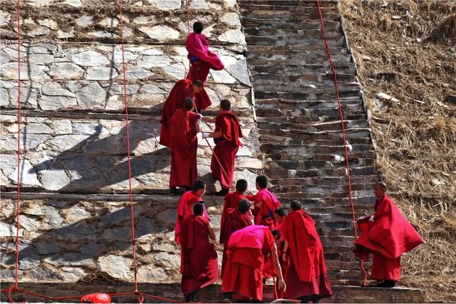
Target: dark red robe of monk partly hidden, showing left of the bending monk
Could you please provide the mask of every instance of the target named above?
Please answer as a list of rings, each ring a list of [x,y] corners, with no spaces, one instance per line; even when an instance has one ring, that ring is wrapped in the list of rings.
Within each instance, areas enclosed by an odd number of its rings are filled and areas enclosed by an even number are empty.
[[[228,240],[234,231],[243,229],[244,227],[252,225],[252,216],[248,214],[242,214],[237,209],[229,209],[227,218],[224,222],[224,226],[220,229],[220,243],[224,244],[223,246],[223,258],[222,258],[222,276],[224,271],[225,263],[227,263],[227,250],[228,250]],[[222,239],[223,236],[223,239]]]

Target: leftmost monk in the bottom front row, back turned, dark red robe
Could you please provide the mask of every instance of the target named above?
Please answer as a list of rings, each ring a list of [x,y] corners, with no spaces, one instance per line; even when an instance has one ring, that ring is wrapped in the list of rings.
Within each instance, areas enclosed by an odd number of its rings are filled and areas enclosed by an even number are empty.
[[[195,204],[193,215],[185,219],[180,234],[181,287],[187,302],[194,302],[197,291],[217,281],[219,275],[217,251],[209,242],[215,240],[215,234],[203,214],[204,205]]]

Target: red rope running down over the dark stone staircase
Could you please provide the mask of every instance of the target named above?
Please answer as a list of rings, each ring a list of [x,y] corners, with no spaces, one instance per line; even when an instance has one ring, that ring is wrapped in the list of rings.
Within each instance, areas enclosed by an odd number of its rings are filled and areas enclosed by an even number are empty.
[[[351,193],[351,174],[350,174],[350,164],[348,162],[348,147],[347,147],[347,137],[345,132],[345,122],[343,122],[343,112],[342,112],[342,105],[341,105],[341,96],[339,94],[339,87],[336,75],[336,68],[334,68],[333,59],[331,57],[331,51],[328,46],[328,39],[326,38],[326,30],[325,30],[325,22],[323,20],[323,13],[321,12],[320,0],[316,0],[316,5],[318,7],[318,16],[320,18],[320,25],[321,25],[321,35],[323,37],[323,41],[325,43],[325,50],[326,54],[328,55],[329,65],[331,67],[331,71],[333,73],[333,81],[334,81],[334,88],[336,90],[336,100],[339,109],[339,116],[341,117],[341,126],[342,126],[342,137],[343,137],[343,149],[345,152],[345,161],[346,161],[346,168],[347,168],[347,181],[348,181],[348,199],[350,199],[351,204],[351,213],[353,214],[353,229],[355,231],[355,239],[358,239],[358,229],[356,228],[356,211],[355,205],[353,204],[353,195]],[[360,260],[361,269],[364,273],[364,284],[366,285],[367,282],[367,273],[366,269],[364,268],[363,261]]]

